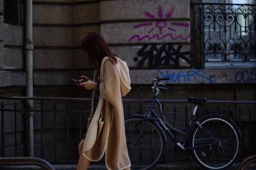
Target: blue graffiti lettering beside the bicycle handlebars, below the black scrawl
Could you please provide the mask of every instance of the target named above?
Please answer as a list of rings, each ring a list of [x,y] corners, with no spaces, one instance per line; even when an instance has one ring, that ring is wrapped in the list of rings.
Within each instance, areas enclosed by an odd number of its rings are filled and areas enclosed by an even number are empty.
[[[162,73],[159,69],[156,70],[161,76],[168,77],[170,80],[166,80],[166,83],[169,83],[169,81],[173,82],[179,82],[179,81],[185,81],[190,82],[192,80],[195,80],[197,83],[214,83],[211,78],[205,76],[205,71],[198,70],[195,71],[193,69],[189,69],[188,71],[179,71],[179,73],[169,73],[169,70],[165,71],[165,74]]]

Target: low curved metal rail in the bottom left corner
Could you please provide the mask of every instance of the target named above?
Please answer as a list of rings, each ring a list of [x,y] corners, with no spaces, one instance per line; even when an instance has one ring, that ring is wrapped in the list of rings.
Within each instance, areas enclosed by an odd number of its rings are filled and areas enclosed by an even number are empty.
[[[49,162],[36,157],[0,157],[0,166],[40,166],[44,169],[55,170]]]

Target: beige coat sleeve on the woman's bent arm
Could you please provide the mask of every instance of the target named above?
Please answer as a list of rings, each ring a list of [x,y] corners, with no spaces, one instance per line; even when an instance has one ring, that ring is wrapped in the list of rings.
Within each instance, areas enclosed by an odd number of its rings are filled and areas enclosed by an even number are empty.
[[[100,94],[112,105],[115,105],[121,96],[120,76],[116,66],[106,60],[103,65],[103,80],[100,83]]]

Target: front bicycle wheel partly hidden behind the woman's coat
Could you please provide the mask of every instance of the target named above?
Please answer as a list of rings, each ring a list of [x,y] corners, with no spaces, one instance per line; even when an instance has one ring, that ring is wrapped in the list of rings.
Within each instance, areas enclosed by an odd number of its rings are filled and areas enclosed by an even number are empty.
[[[143,118],[125,120],[127,149],[131,169],[152,169],[163,154],[164,141],[154,122]]]

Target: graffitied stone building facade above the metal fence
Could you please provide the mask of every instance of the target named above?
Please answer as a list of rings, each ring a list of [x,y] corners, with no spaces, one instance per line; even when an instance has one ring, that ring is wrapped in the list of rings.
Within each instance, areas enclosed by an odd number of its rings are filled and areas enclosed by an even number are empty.
[[[4,20],[4,0],[0,2],[0,94],[25,96],[24,1],[5,6],[19,10],[12,16],[14,22]],[[187,0],[33,1],[35,96],[90,97],[71,78],[92,76],[80,42],[86,31],[95,30],[130,67],[128,98],[136,97],[140,85],[167,76],[172,90],[164,92],[166,99],[254,100],[255,62],[240,67],[236,62],[202,64],[204,56],[194,47],[195,12],[193,2]]]

